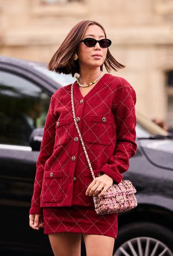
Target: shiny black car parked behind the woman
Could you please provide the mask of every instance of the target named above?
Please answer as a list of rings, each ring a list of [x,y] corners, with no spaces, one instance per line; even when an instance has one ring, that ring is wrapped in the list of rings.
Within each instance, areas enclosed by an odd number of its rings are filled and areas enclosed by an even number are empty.
[[[50,97],[74,80],[43,63],[0,57],[1,255],[53,255],[43,229],[29,227],[29,208]],[[137,122],[138,149],[124,177],[138,206],[118,215],[113,255],[173,255],[172,135],[138,113]]]

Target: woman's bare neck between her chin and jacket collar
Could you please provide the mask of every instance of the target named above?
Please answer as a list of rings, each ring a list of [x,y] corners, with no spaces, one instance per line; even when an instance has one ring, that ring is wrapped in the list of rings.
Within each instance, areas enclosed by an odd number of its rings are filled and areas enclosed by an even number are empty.
[[[83,85],[88,84],[89,82],[94,81],[101,74],[100,67],[95,69],[80,69],[79,80]]]

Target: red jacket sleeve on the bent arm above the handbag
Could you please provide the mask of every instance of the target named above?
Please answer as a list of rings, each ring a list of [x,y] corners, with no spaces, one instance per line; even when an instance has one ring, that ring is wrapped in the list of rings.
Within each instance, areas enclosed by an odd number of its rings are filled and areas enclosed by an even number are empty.
[[[116,89],[112,111],[115,114],[117,142],[114,154],[101,171],[110,176],[114,183],[122,181],[122,173],[129,168],[129,158],[136,154],[136,93],[134,88],[121,78]]]

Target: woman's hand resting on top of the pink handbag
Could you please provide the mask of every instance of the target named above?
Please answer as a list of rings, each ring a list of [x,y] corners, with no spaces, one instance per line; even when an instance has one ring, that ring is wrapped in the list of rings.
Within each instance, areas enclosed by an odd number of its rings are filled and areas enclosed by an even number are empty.
[[[107,174],[103,174],[100,177],[95,178],[91,184],[86,189],[86,196],[96,196],[102,197],[107,189],[113,184],[113,179]]]

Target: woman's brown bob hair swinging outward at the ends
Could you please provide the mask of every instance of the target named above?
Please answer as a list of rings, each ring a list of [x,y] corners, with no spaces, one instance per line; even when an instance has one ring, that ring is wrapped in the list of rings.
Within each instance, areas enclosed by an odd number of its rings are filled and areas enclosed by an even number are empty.
[[[61,46],[59,46],[56,53],[52,56],[47,68],[50,71],[63,74],[80,74],[78,59],[74,60],[73,56],[76,53],[79,42],[83,39],[86,29],[89,25],[98,25],[103,29],[105,38],[107,35],[105,29],[101,24],[96,21],[81,21],[77,23],[65,37]],[[103,63],[107,71],[110,73],[111,69],[117,71],[118,68],[124,68],[125,66],[119,63],[111,55],[110,50],[108,49],[107,57]],[[101,71],[103,71],[103,65],[101,66]]]

